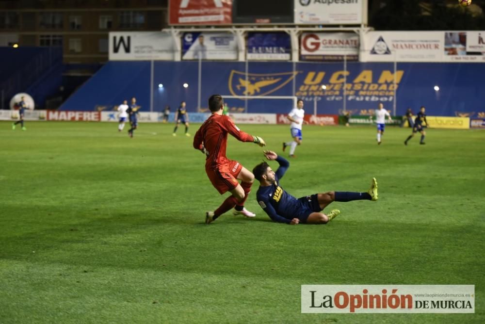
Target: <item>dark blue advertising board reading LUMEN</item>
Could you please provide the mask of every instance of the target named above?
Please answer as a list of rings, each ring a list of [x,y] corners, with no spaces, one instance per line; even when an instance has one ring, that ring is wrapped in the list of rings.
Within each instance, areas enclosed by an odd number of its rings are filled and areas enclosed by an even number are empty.
[[[286,32],[249,32],[247,59],[289,61],[291,59],[290,35]]]

